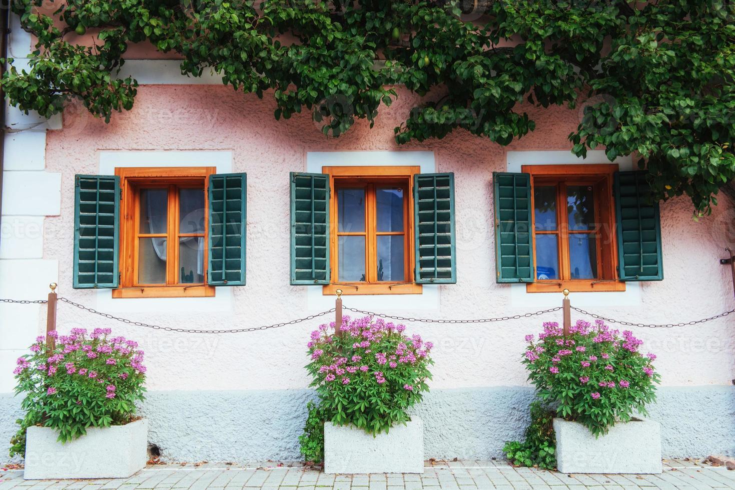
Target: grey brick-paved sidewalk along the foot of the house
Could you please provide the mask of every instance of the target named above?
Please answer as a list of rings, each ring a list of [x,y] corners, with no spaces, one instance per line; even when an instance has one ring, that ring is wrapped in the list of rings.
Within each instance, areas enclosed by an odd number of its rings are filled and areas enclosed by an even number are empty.
[[[270,466],[269,466],[270,465]],[[326,475],[301,466],[163,464],[131,478],[105,480],[24,480],[22,470],[0,472],[7,489],[282,489],[282,490],[445,490],[445,489],[735,489],[735,471],[700,461],[664,460],[661,475],[564,475],[513,468],[505,461],[437,461],[423,475]]]

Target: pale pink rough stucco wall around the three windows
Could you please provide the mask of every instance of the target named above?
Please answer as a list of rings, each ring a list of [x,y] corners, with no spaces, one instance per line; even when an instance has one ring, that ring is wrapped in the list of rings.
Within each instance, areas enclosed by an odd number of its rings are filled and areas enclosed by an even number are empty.
[[[398,147],[393,128],[415,101],[401,92],[381,109],[373,129],[358,123],[338,139],[324,137],[309,115],[276,122],[273,103],[216,86],[142,86],[130,112],[112,122],[68,112],[64,129],[49,131],[46,165],[62,173],[62,213],[46,218],[44,258],[60,261],[63,296],[96,307],[97,293],[71,288],[73,176],[96,173],[98,152],[115,150],[229,150],[233,171],[248,173],[248,285],[234,288],[234,313],[125,314],[133,320],[188,328],[242,328],[290,320],[306,312],[306,288],[288,284],[288,173],[305,170],[307,151],[434,151],[437,171],[456,175],[458,284],[440,288],[438,311],[401,311],[404,316],[498,317],[536,311],[533,298],[512,306],[509,285],[495,284],[491,174],[506,170],[506,151],[567,150],[567,134],[578,112],[528,112],[537,129],[507,148],[463,131],[444,140]],[[202,162],[206,165],[207,162]],[[157,165],[157,162],[150,162]],[[726,245],[725,198],[711,217],[692,220],[690,203],[661,206],[665,280],[642,284],[637,306],[597,308],[600,314],[645,323],[708,317],[734,307],[727,267],[719,264]],[[350,298],[345,298],[348,305]],[[375,309],[380,310],[380,297]],[[559,298],[561,303],[561,298]],[[576,315],[573,315],[573,319]],[[293,389],[308,384],[302,368],[308,332],[315,323],[228,336],[149,331],[115,323],[62,305],[61,328],[110,326],[137,337],[148,353],[149,389]],[[543,320],[561,320],[545,317]],[[479,325],[409,324],[438,347],[436,388],[523,385],[523,336],[540,330],[542,318]],[[41,325],[39,325],[41,328]],[[735,378],[735,329],[731,320],[674,329],[634,329],[659,354],[663,383],[725,385]]]

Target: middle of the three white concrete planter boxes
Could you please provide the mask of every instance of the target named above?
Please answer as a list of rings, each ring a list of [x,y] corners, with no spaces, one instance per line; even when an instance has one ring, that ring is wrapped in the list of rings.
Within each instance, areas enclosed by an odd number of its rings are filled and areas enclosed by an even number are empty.
[[[326,422],[324,472],[423,473],[423,422],[412,417],[406,425],[395,425],[377,436],[353,425]]]

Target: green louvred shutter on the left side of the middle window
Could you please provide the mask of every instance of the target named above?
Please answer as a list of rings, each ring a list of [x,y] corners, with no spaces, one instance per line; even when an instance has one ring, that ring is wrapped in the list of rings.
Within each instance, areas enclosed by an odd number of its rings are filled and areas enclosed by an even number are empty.
[[[291,173],[291,284],[329,283],[329,175]]]

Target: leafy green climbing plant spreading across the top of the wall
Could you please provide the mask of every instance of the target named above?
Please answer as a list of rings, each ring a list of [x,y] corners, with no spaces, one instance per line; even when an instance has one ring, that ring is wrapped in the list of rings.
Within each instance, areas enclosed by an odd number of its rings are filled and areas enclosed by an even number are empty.
[[[44,116],[72,98],[105,120],[130,109],[137,82],[118,78],[123,55],[148,41],[181,55],[184,74],[213,70],[235,90],[267,92],[276,119],[311,111],[325,134],[359,119],[372,126],[401,84],[426,98],[395,128],[398,143],[465,129],[507,145],[535,128],[524,103],[567,105],[583,107],[574,153],[636,155],[656,199],[686,194],[709,212],[735,177],[731,1],[479,0],[470,13],[458,0],[11,7],[38,43],[29,68],[10,68],[2,87],[12,104]]]

